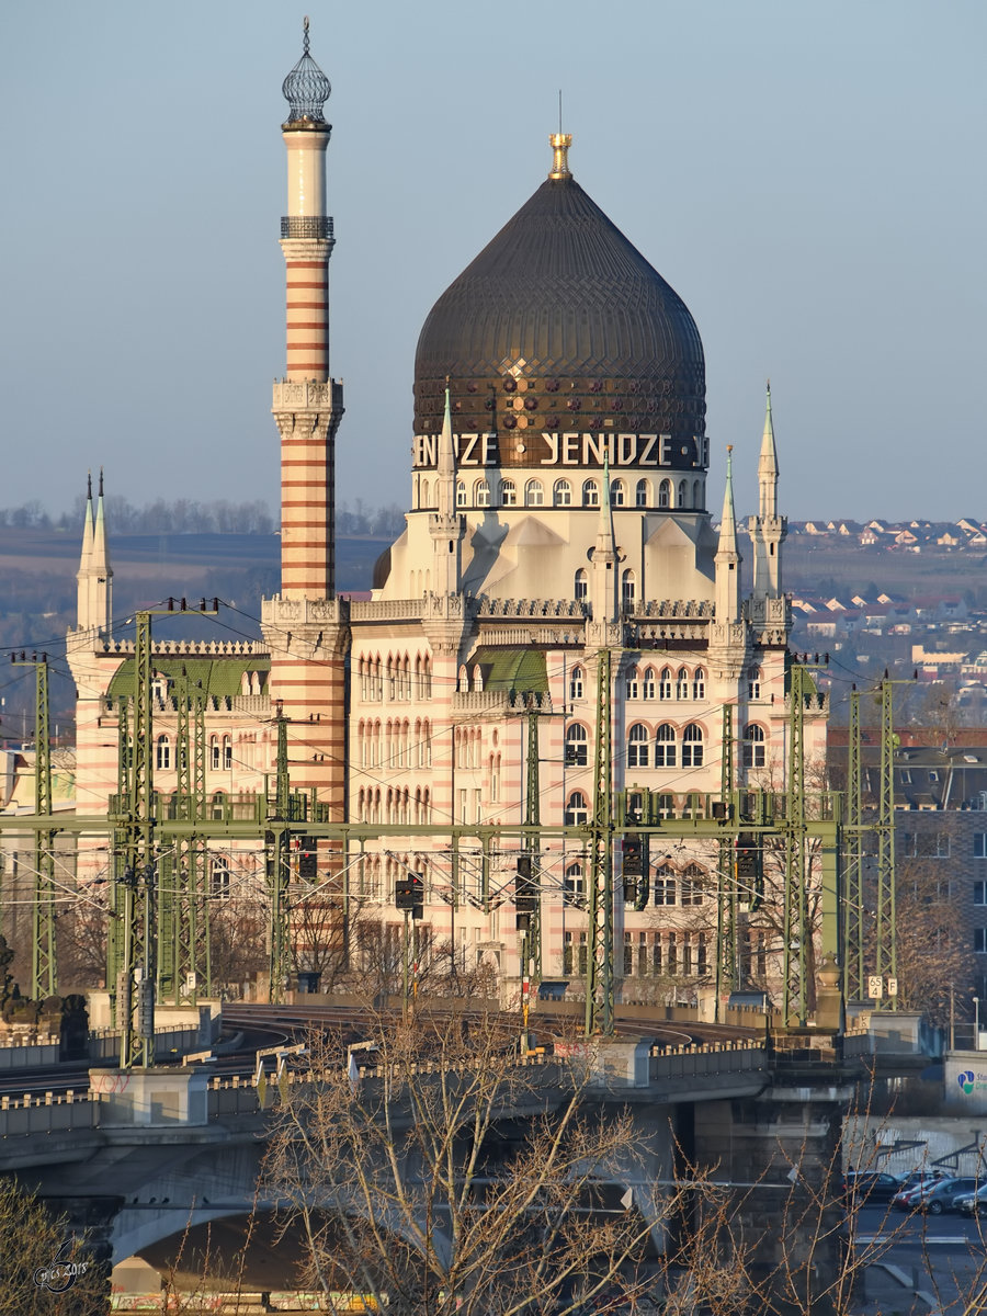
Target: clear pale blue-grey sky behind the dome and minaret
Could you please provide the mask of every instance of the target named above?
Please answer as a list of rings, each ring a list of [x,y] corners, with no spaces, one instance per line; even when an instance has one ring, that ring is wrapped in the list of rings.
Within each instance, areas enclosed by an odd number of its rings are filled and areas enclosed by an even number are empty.
[[[699,325],[711,507],[726,443],[754,507],[770,378],[791,519],[987,520],[983,0],[8,0],[0,505],[104,466],[276,507],[304,4],[341,503],[408,505],[418,330],[546,176],[561,89],[574,175]]]

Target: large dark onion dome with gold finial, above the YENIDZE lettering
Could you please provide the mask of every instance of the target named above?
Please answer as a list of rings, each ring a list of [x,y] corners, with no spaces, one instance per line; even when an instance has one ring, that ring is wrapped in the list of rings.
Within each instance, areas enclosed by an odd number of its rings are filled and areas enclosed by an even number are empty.
[[[519,432],[670,434],[662,465],[695,468],[705,362],[679,295],[569,171],[551,172],[432,308],[415,359],[415,433],[496,432],[501,466],[540,461]],[[511,441],[507,441],[511,438]]]

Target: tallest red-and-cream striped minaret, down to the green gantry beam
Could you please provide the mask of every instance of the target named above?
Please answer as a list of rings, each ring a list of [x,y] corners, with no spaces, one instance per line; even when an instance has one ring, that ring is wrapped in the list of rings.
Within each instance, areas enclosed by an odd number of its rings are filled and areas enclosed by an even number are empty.
[[[282,591],[262,603],[271,650],[271,695],[288,719],[292,787],[317,788],[330,820],[343,817],[343,605],[334,597],[334,449],[342,383],[329,375],[329,257],[325,153],[332,133],[322,108],[330,86],[308,51],[282,87],[288,118],[288,213],[280,246],[287,284],[287,372],[274,386],[282,438]],[[341,611],[342,609],[342,611]]]

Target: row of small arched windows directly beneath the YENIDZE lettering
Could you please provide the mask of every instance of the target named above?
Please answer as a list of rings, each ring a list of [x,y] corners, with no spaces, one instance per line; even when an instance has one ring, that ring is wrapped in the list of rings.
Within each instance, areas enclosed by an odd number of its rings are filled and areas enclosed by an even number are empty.
[[[487,480],[478,479],[472,484],[466,480],[457,480],[455,505],[457,507],[599,507],[601,496],[601,482],[597,479],[583,480],[582,484],[569,479],[558,479],[546,486],[542,480],[530,479],[522,486],[513,479]],[[432,505],[430,499],[438,497],[438,482],[434,486],[422,479],[418,486],[418,507]],[[704,504],[704,490],[701,480],[661,480],[658,484],[658,497],[654,496],[651,480],[641,479],[628,483],[620,476],[611,480],[611,507],[658,507],[661,509],[690,508],[701,511]]]

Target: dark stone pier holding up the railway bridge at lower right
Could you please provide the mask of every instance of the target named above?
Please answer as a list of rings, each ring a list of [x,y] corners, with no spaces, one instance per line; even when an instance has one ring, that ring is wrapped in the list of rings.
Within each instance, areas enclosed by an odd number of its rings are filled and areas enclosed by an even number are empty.
[[[726,1187],[728,1246],[779,1316],[830,1316],[849,1299],[844,1209],[832,1190],[848,1096],[837,1086],[771,1086],[695,1107],[695,1161]]]

